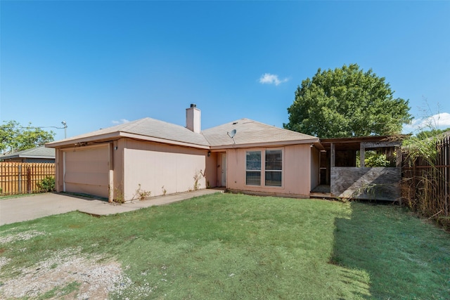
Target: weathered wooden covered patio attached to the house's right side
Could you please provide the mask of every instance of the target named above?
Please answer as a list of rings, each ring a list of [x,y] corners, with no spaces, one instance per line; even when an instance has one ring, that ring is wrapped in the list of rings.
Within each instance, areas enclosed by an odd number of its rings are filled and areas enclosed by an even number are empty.
[[[366,136],[321,139],[319,183],[310,197],[400,200],[401,138]],[[386,155],[387,167],[366,167],[366,152]]]

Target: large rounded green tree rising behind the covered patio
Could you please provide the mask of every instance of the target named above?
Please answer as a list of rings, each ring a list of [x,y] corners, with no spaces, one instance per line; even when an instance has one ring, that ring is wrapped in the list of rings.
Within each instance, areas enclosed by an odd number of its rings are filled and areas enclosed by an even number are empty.
[[[409,101],[394,98],[384,77],[359,65],[317,70],[297,86],[285,129],[319,138],[389,135],[411,122]]]

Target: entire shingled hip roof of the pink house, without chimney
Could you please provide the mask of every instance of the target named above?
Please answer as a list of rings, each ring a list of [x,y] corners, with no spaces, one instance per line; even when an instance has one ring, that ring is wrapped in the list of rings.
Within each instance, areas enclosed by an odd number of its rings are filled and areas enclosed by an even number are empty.
[[[236,129],[236,135],[233,138],[230,138],[227,132],[231,132],[233,129]],[[205,149],[235,148],[263,144],[319,144],[319,138],[316,138],[315,136],[281,129],[251,119],[239,119],[235,122],[201,131],[201,133],[195,133],[184,126],[163,122],[157,119],[145,118],[48,143],[46,146],[59,147],[63,145],[73,145],[74,143],[114,141],[124,137]]]

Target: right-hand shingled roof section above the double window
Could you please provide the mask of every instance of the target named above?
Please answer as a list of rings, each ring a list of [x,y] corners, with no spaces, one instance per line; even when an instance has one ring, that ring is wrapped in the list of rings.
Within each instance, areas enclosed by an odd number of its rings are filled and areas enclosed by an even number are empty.
[[[231,138],[228,133],[236,130]],[[238,119],[202,131],[203,136],[212,148],[236,148],[257,145],[289,145],[294,143],[319,143],[319,138],[304,133],[278,128],[276,126],[253,121],[252,119]]]

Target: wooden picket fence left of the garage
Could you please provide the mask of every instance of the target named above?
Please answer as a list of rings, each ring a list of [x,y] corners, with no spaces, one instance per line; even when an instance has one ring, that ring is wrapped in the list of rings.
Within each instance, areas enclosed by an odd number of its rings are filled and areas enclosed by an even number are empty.
[[[0,195],[39,193],[47,176],[55,177],[54,163],[0,162]]]

